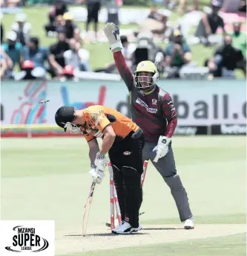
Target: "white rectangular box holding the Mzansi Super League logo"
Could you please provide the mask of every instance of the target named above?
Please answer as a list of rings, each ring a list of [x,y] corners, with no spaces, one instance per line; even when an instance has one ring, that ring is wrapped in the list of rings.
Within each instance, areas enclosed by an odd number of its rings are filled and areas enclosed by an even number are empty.
[[[0,255],[54,256],[54,243],[54,220],[0,220]]]

